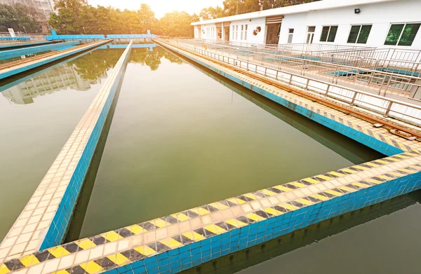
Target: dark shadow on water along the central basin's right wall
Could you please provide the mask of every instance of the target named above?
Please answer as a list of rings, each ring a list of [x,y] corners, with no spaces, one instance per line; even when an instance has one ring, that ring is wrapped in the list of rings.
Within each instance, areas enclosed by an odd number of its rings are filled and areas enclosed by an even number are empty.
[[[185,57],[182,57],[181,55],[178,55],[171,50],[168,51],[184,60],[188,64],[191,64],[192,67],[203,72],[203,74],[206,74],[210,78],[213,78],[213,80],[218,81],[218,83],[225,85],[234,93],[241,95],[241,97],[244,97],[250,102],[253,102],[253,104],[256,104],[258,107],[265,109],[265,111],[269,112],[269,114],[272,114],[273,116],[288,123],[289,125],[293,126],[293,128],[300,130],[300,132],[304,133],[305,135],[312,137],[312,139],[316,140],[320,144],[323,144],[323,146],[328,147],[332,151],[335,151],[340,156],[346,158],[354,164],[366,163],[370,160],[376,160],[385,157],[382,153],[370,149],[367,146],[363,146],[362,144],[359,144],[359,142],[356,142],[353,139],[349,139],[339,132],[335,132],[330,128],[319,125],[318,123],[310,120],[305,116],[302,116],[301,114],[296,113],[295,111],[287,109],[286,107],[283,107],[280,104],[273,102],[272,100],[269,100],[258,93],[244,88],[242,85],[239,85],[234,81],[216,74],[214,71],[203,67],[201,64],[192,62],[192,60],[187,60]]]

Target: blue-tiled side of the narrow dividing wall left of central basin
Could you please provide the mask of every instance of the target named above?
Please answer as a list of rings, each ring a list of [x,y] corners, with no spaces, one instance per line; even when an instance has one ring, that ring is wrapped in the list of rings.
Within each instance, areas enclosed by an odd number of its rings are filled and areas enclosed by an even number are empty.
[[[69,222],[72,219],[72,214],[77,202],[77,198],[79,197],[83,181],[86,177],[89,165],[93,158],[93,153],[95,152],[98,140],[100,139],[102,128],[105,125],[105,120],[107,119],[109,109],[112,105],[112,101],[114,100],[114,95],[119,86],[121,76],[125,71],[125,66],[128,61],[129,55],[130,51],[126,55],[123,65],[119,68],[119,73],[114,79],[105,105],[102,108],[100,116],[98,117],[98,121],[95,123],[95,127],[91,132],[91,136],[89,137],[88,142],[85,148],[83,149],[81,159],[76,165],[76,169],[72,177],[70,178],[69,185],[67,186],[63,198],[58,206],[58,210],[57,212],[55,212],[53,221],[51,222],[51,225],[48,228],[46,236],[43,242],[41,243],[41,247],[39,250],[60,245],[62,243],[62,240],[65,238],[65,233],[67,231],[67,227],[69,226]]]

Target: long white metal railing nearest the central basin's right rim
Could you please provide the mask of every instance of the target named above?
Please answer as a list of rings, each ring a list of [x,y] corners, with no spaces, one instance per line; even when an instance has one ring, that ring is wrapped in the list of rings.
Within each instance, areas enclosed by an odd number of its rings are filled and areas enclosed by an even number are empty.
[[[206,57],[234,65],[235,67],[251,71],[255,74],[272,78],[275,81],[294,85],[307,93],[329,97],[333,100],[345,102],[361,109],[373,111],[385,117],[395,118],[396,120],[410,123],[413,125],[421,125],[421,106],[393,100],[387,97],[366,93],[354,88],[348,88],[343,85],[321,81],[315,78],[309,78],[300,74],[293,74],[287,71],[268,67],[263,64],[256,64],[247,60],[241,60],[236,57],[222,55],[220,53],[213,53],[209,50],[198,48],[184,41],[166,39],[166,43],[185,48],[194,53],[199,53]]]

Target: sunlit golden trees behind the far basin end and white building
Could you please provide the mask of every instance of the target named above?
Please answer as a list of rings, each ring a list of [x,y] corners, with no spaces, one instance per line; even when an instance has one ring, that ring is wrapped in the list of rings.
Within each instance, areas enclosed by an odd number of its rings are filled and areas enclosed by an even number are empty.
[[[192,22],[221,18],[237,13],[250,13],[267,8],[278,8],[318,0],[225,0],[220,6],[203,8],[199,15],[185,11],[166,13],[160,20],[147,4],[140,4],[138,11],[121,11],[112,7],[88,5],[86,0],[56,0],[58,14],[51,13],[48,21],[59,34],[153,34],[167,36],[193,36]],[[7,11],[0,7],[7,17]],[[1,18],[0,18],[1,20]]]

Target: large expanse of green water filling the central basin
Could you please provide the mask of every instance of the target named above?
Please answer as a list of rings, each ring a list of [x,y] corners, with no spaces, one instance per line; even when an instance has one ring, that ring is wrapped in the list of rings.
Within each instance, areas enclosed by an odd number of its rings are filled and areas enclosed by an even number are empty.
[[[130,59],[67,240],[381,157],[162,48]]]

